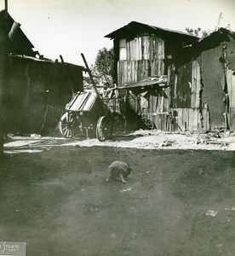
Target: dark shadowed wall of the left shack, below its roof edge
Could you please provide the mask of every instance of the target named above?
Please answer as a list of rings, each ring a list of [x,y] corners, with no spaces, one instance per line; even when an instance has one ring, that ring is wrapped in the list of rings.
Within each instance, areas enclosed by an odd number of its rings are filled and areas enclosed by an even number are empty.
[[[73,89],[83,90],[80,68],[66,67]],[[9,132],[49,134],[70,101],[72,90],[59,63],[11,57],[5,92]]]

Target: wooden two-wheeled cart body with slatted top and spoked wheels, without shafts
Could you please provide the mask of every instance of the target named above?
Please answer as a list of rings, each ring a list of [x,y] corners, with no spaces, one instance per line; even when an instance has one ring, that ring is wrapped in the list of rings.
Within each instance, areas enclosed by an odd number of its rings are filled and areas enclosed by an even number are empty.
[[[100,141],[112,134],[113,114],[95,91],[77,92],[66,104],[66,111],[59,122],[60,134],[74,137],[77,133],[85,137],[97,137]]]

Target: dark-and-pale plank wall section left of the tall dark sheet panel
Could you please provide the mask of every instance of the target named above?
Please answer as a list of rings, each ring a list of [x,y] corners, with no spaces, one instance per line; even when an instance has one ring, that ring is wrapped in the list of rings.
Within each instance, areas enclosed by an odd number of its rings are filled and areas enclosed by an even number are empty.
[[[198,60],[177,67],[169,66],[170,131],[195,131],[201,128],[200,79]]]

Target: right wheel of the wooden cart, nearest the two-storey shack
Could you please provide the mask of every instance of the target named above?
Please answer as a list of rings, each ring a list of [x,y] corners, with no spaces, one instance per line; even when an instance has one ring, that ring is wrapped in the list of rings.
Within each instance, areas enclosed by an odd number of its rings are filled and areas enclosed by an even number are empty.
[[[100,116],[96,125],[96,137],[98,141],[104,142],[111,135],[111,121],[106,116]]]

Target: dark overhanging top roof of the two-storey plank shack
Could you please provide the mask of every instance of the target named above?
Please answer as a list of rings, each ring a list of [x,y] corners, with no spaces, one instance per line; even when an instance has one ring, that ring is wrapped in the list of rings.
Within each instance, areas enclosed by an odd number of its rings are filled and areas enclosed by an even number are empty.
[[[153,32],[153,33],[158,33],[158,32],[174,33],[187,38],[195,38],[195,40],[198,39],[197,37],[194,37],[191,34],[188,34],[186,32],[175,31],[167,28],[162,28],[159,26],[151,26],[151,25],[147,25],[137,21],[129,22],[128,25],[118,28],[116,31],[109,33],[108,35],[105,36],[105,38],[117,38],[124,34],[138,34],[138,33],[141,33],[141,30],[148,30],[148,32]]]

